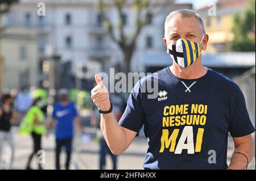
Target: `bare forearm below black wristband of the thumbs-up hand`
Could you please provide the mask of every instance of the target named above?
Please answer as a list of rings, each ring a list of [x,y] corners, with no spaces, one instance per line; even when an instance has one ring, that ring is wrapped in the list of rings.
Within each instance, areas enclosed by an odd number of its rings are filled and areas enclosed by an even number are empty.
[[[115,120],[113,112],[101,114],[101,130],[113,154],[121,154],[125,151],[125,132]]]

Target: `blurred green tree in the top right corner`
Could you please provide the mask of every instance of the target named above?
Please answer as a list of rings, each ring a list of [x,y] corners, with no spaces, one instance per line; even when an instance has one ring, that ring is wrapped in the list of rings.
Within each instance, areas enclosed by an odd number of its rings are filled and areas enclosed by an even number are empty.
[[[234,40],[232,50],[237,52],[255,51],[255,0],[241,12],[234,15]]]

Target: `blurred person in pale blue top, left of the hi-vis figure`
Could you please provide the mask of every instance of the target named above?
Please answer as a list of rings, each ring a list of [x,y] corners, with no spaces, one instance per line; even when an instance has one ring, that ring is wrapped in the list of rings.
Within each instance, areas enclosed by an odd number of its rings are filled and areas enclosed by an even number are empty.
[[[30,108],[33,102],[33,98],[30,92],[22,87],[22,89],[18,92],[14,102],[14,108],[18,113],[19,119],[23,119],[26,115],[28,109]]]

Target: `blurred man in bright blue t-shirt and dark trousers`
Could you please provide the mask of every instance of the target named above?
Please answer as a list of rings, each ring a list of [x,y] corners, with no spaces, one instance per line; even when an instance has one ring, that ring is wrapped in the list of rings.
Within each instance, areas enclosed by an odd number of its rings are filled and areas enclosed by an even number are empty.
[[[69,170],[69,162],[72,153],[72,138],[73,138],[73,120],[84,133],[82,123],[77,115],[77,110],[73,103],[68,101],[68,90],[60,89],[58,92],[59,103],[53,107],[52,119],[49,122],[49,129],[56,124],[56,169],[60,170],[60,152],[61,148],[65,147],[67,159],[65,169]]]

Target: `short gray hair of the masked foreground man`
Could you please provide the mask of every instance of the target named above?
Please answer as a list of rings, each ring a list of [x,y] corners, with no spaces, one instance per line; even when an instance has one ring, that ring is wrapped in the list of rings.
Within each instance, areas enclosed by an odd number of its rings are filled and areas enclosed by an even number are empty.
[[[166,17],[166,21],[164,22],[164,37],[167,37],[167,35],[166,35],[166,33],[167,33],[167,24],[168,24],[168,22],[170,22],[170,19],[171,19],[172,16],[174,16],[175,14],[180,14],[182,18],[191,18],[191,17],[195,17],[195,18],[199,21],[203,33],[205,33],[204,21],[203,21],[203,19],[200,17],[200,15],[197,14],[196,11],[188,10],[188,9],[182,9],[182,10],[172,11],[172,12],[170,12],[170,14]]]

